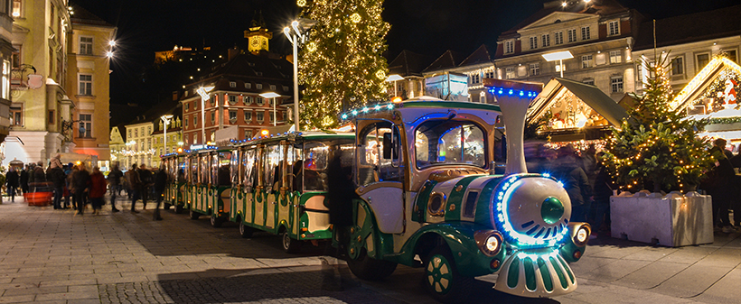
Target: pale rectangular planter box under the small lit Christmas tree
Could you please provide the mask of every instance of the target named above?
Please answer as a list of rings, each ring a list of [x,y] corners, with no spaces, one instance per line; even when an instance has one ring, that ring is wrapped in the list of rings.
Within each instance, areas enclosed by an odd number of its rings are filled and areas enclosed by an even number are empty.
[[[689,192],[624,192],[610,197],[612,235],[677,247],[713,243],[713,207],[708,195]]]

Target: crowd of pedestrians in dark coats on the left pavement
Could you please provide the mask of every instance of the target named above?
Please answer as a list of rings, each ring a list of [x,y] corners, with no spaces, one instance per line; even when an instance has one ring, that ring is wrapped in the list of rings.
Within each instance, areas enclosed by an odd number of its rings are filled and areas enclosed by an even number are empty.
[[[127,195],[125,198],[131,199],[132,213],[139,213],[136,210],[137,200],[141,199],[142,208],[146,209],[147,200],[154,199],[154,219],[162,220],[160,207],[167,179],[164,167],[148,170],[144,164],[139,168],[134,164],[131,170],[124,173],[117,163],[114,163],[106,177],[98,166],[89,171],[83,162],[63,165],[60,154],[57,154],[49,161],[46,170],[42,161],[27,164],[25,168],[11,166],[5,175],[5,186],[11,201],[15,196],[25,198],[31,193],[50,193],[55,210],[72,208],[77,210],[76,216],[82,216],[88,204],[92,207],[92,213],[98,215],[106,204],[107,191],[110,191],[111,211],[119,212],[116,201],[124,190]]]

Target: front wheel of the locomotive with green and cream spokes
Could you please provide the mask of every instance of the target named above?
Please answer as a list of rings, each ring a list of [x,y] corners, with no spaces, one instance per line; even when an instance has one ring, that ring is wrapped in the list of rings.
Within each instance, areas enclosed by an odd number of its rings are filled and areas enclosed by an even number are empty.
[[[437,246],[425,260],[425,287],[436,300],[455,303],[464,300],[474,278],[458,273],[455,260],[446,246]]]

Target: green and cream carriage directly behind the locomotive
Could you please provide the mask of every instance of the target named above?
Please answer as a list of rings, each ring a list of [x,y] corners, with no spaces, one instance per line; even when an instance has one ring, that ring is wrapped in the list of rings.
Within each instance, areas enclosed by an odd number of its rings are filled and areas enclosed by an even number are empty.
[[[281,235],[288,253],[303,241],[329,239],[327,165],[338,151],[352,163],[352,143],[353,134],[305,132],[236,144],[229,220],[244,237],[256,231]]]

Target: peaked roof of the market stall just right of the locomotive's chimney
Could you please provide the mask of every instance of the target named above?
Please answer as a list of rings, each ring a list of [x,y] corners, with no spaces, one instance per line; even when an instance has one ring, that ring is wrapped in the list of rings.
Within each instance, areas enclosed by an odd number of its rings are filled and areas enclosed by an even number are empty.
[[[618,126],[622,124],[624,118],[628,117],[628,112],[599,88],[571,79],[551,78],[539,96],[530,104],[528,120],[535,119],[548,110],[561,89],[567,89],[579,97],[587,106],[605,117],[610,124]]]

